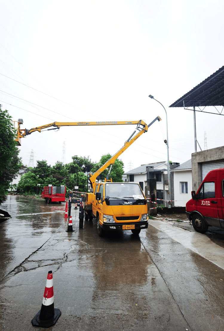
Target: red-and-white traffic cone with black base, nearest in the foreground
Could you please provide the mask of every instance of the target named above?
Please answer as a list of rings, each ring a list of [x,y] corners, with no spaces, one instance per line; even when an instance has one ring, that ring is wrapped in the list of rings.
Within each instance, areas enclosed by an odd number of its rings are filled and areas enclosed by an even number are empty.
[[[60,309],[54,308],[53,274],[52,271],[48,271],[42,306],[32,319],[32,324],[48,328],[57,322],[60,315]]]

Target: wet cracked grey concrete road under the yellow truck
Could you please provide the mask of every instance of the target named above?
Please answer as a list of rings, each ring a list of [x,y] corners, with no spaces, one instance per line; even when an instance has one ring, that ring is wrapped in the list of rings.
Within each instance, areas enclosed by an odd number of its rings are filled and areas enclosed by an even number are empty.
[[[48,270],[61,310],[49,330],[224,330],[224,248],[208,236],[151,221],[137,237],[100,238],[74,209],[65,232],[65,204],[9,196],[1,208],[12,218],[0,223],[0,330],[34,329]]]

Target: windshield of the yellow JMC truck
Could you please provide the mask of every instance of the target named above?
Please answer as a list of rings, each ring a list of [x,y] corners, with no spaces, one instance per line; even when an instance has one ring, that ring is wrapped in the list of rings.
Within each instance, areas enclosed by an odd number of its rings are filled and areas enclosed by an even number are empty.
[[[145,199],[140,186],[132,183],[108,183],[105,184],[105,196],[110,198],[130,197],[133,199]]]

